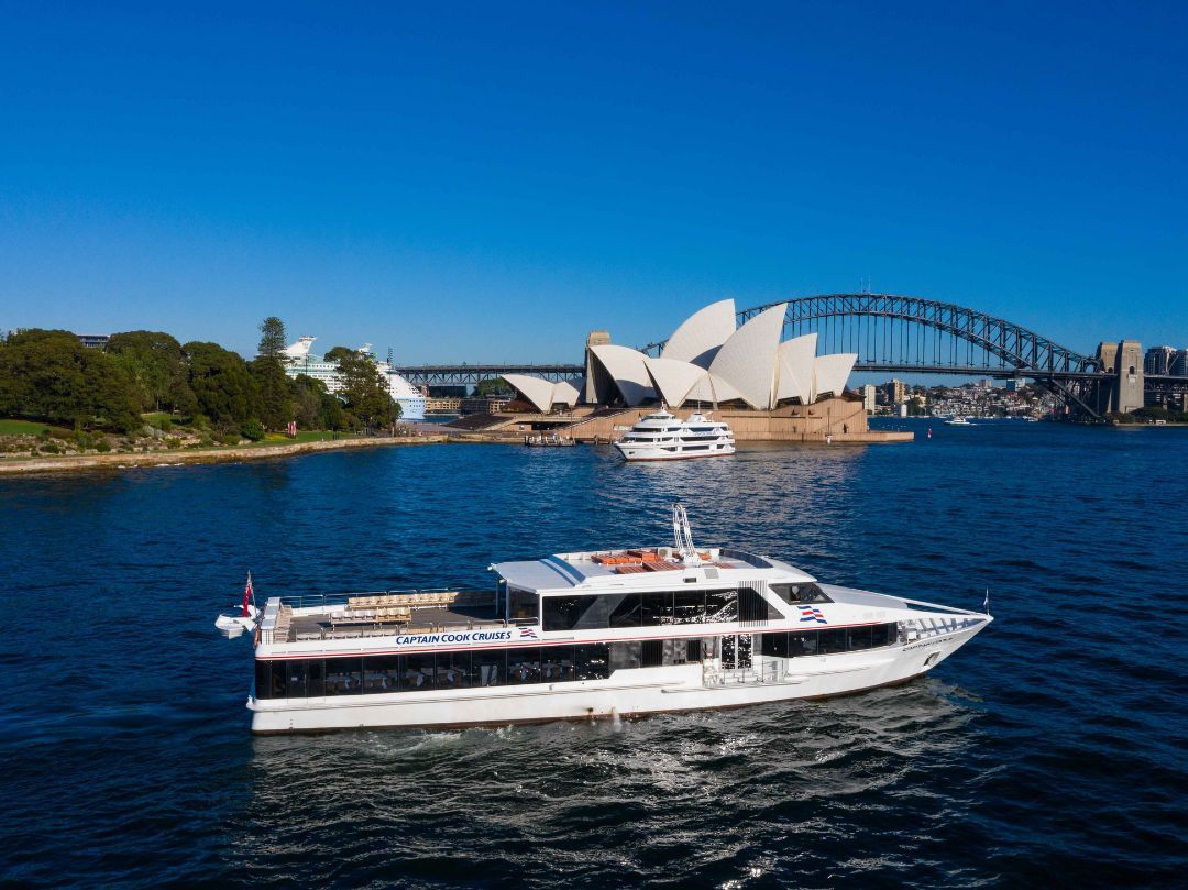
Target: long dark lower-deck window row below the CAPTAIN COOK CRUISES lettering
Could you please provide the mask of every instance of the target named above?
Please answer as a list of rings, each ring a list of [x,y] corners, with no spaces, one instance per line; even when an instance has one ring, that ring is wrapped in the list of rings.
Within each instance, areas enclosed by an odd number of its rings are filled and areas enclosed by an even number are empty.
[[[255,662],[258,699],[604,680],[615,670],[700,662],[709,638]]]

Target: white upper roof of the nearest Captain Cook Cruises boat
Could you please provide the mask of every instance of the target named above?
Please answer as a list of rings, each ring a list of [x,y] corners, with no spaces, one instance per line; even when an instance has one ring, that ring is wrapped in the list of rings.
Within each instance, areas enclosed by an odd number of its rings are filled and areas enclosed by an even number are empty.
[[[728,548],[699,548],[688,566],[670,547],[588,550],[542,560],[497,562],[491,569],[522,591],[656,589],[674,583],[735,585],[746,581],[804,583],[811,575],[769,556]]]

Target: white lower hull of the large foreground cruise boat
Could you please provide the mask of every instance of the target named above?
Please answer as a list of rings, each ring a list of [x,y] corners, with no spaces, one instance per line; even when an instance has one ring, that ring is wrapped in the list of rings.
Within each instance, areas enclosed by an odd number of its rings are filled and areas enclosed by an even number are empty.
[[[861,652],[788,659],[759,656],[757,662],[775,668],[767,682],[732,682],[731,671],[714,671],[696,663],[619,670],[606,680],[523,687],[249,700],[248,708],[253,712],[253,733],[282,734],[380,727],[503,726],[822,699],[903,683],[925,674],[985,626],[986,623],[980,623],[954,633]]]

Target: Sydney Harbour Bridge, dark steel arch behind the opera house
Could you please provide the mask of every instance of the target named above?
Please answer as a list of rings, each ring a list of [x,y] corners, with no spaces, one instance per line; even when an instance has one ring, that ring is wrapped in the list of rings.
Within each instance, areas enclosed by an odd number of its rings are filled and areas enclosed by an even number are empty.
[[[855,353],[855,372],[874,371],[960,377],[1029,378],[1059,396],[1074,414],[1101,417],[1117,405],[1119,379],[1129,375],[1139,392],[1177,396],[1188,377],[1144,374],[1143,356],[1111,366],[1111,358],[1085,355],[1020,324],[975,309],[891,293],[828,293],[742,309],[742,324],[765,309],[788,303],[784,339],[817,334],[821,353]],[[642,347],[659,354],[663,342]],[[1137,347],[1137,345],[1136,345]],[[583,365],[418,365],[398,366],[411,383],[426,386],[474,384],[504,373],[551,380],[580,377]]]

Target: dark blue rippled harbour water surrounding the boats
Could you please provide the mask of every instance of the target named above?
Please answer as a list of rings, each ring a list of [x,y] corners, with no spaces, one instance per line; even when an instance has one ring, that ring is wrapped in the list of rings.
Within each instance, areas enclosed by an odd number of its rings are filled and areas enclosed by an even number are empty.
[[[1188,429],[883,447],[379,448],[0,480],[12,885],[1170,885],[1188,866]],[[928,677],[617,724],[253,739],[261,595],[737,542],[998,620]]]

